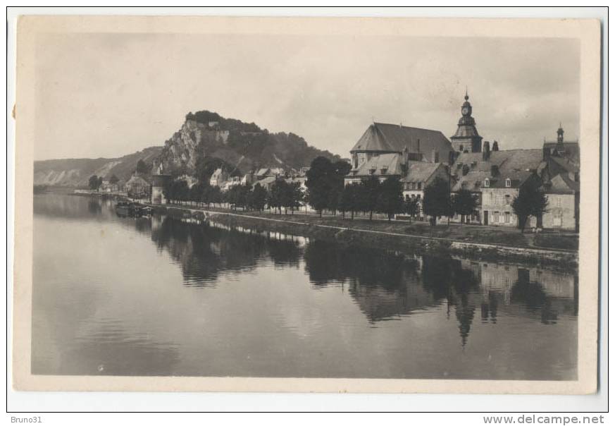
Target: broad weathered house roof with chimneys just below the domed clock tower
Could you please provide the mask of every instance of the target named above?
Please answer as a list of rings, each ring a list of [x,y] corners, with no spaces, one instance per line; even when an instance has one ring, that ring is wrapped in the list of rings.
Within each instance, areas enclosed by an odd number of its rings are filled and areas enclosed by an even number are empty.
[[[468,174],[464,176],[464,165]],[[497,174],[492,176],[492,166],[497,166]],[[483,188],[485,179],[489,179],[489,188],[507,188],[506,180],[511,180],[508,188],[518,188],[530,176],[545,166],[542,162],[542,150],[502,150],[490,152],[489,159],[483,161],[482,152],[464,152],[459,154],[452,166],[455,183],[452,190],[473,190]]]

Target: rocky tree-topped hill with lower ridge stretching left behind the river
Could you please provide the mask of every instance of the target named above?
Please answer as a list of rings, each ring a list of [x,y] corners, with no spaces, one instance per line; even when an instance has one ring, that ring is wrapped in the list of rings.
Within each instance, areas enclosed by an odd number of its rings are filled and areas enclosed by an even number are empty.
[[[164,146],[149,147],[124,157],[106,159],[54,159],[35,162],[35,185],[87,186],[89,176],[127,181],[142,159],[149,169],[163,164],[170,174],[207,178],[223,166],[235,174],[260,167],[299,170],[318,156],[340,159],[318,150],[294,133],[269,133],[254,123],[224,118],[211,111],[189,113],[180,130]]]

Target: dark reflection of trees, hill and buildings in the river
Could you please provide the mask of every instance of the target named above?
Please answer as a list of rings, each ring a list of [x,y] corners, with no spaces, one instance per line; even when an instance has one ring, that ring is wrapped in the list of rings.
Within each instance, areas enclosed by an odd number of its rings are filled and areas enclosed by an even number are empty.
[[[372,324],[445,306],[449,319],[458,323],[462,346],[475,321],[497,324],[502,313],[543,324],[556,323],[560,315],[578,314],[576,274],[347,248],[284,233],[192,224],[170,217],[154,216],[148,223],[135,221],[135,227],[151,232],[152,241],[181,265],[185,285],[216,286],[221,274],[303,264],[315,290],[342,288]]]

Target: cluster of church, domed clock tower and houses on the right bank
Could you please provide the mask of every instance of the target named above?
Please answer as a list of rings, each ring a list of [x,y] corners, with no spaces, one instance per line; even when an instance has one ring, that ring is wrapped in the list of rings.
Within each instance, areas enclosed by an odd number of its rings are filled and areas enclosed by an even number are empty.
[[[549,211],[531,219],[530,226],[578,230],[578,140],[564,140],[560,124],[557,139],[545,140],[542,149],[501,150],[497,141],[483,142],[468,99],[466,93],[450,140],[437,130],[372,123],[352,147],[346,183],[394,176],[406,199],[421,200],[425,187],[442,178],[452,193],[469,190],[478,199],[473,214],[453,221],[495,226],[516,226],[512,200],[523,185],[536,185],[547,195]]]

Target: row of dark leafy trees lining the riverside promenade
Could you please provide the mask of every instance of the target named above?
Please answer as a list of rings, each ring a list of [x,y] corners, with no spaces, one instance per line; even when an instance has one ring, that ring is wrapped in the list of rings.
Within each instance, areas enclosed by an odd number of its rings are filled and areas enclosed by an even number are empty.
[[[417,199],[403,197],[402,183],[399,178],[389,177],[380,181],[376,176],[344,185],[344,176],[350,171],[350,165],[344,161],[331,162],[325,157],[316,157],[307,172],[304,194],[299,183],[289,183],[280,178],[266,190],[259,183],[254,185],[236,185],[226,193],[217,186],[210,186],[208,179],[203,179],[189,188],[186,181],[173,181],[164,189],[169,202],[197,202],[206,205],[228,203],[232,208],[242,207],[247,210],[262,211],[265,207],[282,213],[290,210],[291,214],[305,203],[309,203],[322,217],[323,210],[333,214],[350,214],[351,219],[357,212],[385,214],[390,220],[395,214],[407,214],[416,217],[421,212],[430,217],[435,225],[437,217],[453,217],[454,214],[471,215],[476,212],[478,200],[469,190],[459,190],[451,195],[449,183],[436,178],[423,192],[422,204]],[[528,218],[540,217],[547,212],[547,198],[536,186],[526,185],[521,188],[511,207],[518,217],[518,226],[523,232]],[[462,223],[463,221],[460,221]]]

